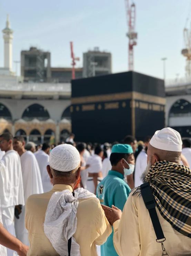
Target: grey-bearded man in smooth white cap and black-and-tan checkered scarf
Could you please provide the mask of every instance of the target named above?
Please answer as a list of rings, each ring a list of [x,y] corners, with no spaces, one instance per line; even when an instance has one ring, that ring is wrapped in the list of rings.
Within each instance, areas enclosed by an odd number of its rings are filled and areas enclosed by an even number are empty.
[[[141,187],[133,189],[122,213],[103,206],[119,256],[191,255],[191,170],[181,165],[181,151],[177,131],[155,132]]]

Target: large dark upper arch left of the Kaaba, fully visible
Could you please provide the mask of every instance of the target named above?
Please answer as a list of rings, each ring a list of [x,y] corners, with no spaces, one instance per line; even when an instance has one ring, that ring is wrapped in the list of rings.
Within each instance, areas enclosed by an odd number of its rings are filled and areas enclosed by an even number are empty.
[[[39,121],[45,121],[50,118],[50,115],[46,107],[36,103],[28,106],[22,114],[22,119],[26,121],[31,121],[34,118],[37,118]]]

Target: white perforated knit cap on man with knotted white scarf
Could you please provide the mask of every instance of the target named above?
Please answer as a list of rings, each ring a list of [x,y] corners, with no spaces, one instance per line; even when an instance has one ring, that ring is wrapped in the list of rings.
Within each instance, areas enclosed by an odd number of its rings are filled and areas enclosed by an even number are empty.
[[[80,153],[69,144],[53,148],[49,156],[49,165],[57,171],[71,171],[80,164]]]

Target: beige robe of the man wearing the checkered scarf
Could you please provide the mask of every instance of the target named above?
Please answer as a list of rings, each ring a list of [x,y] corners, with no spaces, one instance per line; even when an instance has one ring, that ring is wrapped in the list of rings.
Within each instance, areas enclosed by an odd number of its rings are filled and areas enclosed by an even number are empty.
[[[156,208],[157,209],[157,208]],[[162,218],[157,209],[159,221],[166,238],[164,247],[172,256],[191,255],[191,239],[174,230]],[[149,212],[142,196],[129,195],[121,220],[113,223],[113,243],[119,256],[161,256],[162,247],[156,242]]]

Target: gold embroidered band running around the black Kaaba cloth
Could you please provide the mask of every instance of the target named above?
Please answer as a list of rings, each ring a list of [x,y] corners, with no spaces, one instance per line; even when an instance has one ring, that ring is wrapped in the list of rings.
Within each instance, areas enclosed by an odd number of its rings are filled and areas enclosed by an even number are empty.
[[[131,92],[120,92],[115,94],[104,94],[104,95],[94,95],[94,96],[85,96],[85,97],[74,97],[71,98],[72,104],[87,104],[87,103],[96,103],[96,102],[104,102],[104,101],[115,101],[115,100],[141,100],[148,103],[155,103],[165,105],[165,98],[143,94],[136,91]]]

